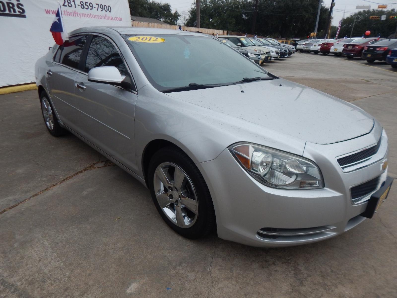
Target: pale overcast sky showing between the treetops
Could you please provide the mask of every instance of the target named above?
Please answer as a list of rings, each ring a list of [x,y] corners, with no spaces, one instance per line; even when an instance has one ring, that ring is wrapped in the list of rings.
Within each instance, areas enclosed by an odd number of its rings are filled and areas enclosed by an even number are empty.
[[[157,0],[158,1],[158,0]],[[397,0],[371,0],[372,2],[377,2],[380,4],[389,4],[389,3],[397,3]],[[188,11],[191,7],[191,4],[194,0],[161,0],[163,3],[170,3],[172,10],[177,10],[179,13],[183,11]],[[328,8],[331,5],[331,0],[324,0],[324,5]],[[346,10],[345,17],[357,12],[357,5],[370,5],[371,9],[378,8],[378,4],[370,3],[364,0],[335,0],[335,7],[333,12],[332,25],[337,26],[340,19],[343,17],[343,11]],[[397,4],[389,4],[387,9],[389,8],[397,8]],[[314,27],[314,24],[313,24]]]

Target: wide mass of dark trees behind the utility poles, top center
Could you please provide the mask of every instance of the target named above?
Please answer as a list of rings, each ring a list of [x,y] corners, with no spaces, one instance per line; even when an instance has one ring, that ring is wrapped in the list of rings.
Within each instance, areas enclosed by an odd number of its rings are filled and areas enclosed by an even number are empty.
[[[240,33],[251,32],[254,1],[201,0],[201,27]],[[318,0],[259,0],[256,33],[272,37],[306,37],[314,31]],[[322,6],[319,30],[327,25],[328,8]],[[196,8],[189,10],[187,25],[195,27]]]

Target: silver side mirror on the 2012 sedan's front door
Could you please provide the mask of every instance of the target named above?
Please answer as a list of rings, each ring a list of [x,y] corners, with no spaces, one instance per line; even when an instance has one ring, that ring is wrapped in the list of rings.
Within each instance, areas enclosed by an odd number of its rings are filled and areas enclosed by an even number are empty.
[[[116,66],[94,67],[88,73],[88,80],[90,82],[121,86],[123,88],[131,87],[131,79],[125,75],[121,75]]]

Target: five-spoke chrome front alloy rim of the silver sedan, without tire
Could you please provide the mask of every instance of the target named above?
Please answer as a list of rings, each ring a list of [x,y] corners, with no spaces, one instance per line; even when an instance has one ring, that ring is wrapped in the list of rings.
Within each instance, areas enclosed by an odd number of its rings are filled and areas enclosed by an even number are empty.
[[[162,163],[154,172],[154,193],[170,221],[190,228],[198,216],[197,193],[187,174],[173,163]]]

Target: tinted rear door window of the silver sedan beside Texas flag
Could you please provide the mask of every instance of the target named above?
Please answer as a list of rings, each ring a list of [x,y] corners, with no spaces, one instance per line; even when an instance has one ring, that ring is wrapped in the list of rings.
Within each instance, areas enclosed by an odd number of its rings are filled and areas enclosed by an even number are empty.
[[[83,53],[83,48],[86,41],[86,35],[74,36],[68,41],[65,41],[64,45],[62,46],[60,62],[66,66],[78,69],[81,54]]]

